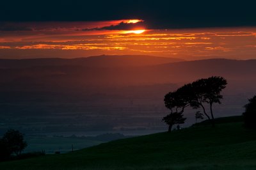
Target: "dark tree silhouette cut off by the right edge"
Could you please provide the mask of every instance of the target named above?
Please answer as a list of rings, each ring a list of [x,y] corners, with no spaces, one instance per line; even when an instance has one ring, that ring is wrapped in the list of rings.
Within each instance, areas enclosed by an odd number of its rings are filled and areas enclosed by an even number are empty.
[[[244,116],[244,125],[248,128],[256,128],[256,95],[253,98],[249,99],[249,103],[244,105],[245,112]]]

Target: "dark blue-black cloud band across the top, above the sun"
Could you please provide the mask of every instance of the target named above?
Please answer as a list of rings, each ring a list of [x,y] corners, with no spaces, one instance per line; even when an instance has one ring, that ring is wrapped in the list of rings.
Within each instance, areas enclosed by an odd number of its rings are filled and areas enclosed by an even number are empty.
[[[256,26],[255,2],[246,0],[3,1],[1,7],[2,21],[143,19],[152,29]]]

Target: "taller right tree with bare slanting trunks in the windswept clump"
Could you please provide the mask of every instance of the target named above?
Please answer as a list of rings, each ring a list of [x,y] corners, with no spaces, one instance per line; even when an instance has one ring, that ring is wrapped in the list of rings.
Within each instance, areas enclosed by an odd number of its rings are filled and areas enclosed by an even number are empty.
[[[214,116],[212,112],[212,104],[221,104],[220,99],[223,96],[220,94],[222,89],[226,88],[227,81],[223,77],[212,76],[208,79],[199,79],[192,82],[193,100],[190,105],[194,109],[202,107],[204,115],[211,121],[214,126]],[[205,104],[209,104],[211,117],[207,114]]]

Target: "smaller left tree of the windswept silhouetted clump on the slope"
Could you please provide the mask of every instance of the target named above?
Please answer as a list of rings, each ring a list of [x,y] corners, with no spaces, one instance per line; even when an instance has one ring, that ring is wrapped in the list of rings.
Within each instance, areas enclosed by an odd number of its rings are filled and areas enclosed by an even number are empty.
[[[183,118],[185,107],[189,106],[191,100],[191,84],[186,84],[176,91],[167,93],[164,96],[165,107],[170,109],[170,114],[163,118],[163,121],[169,125],[168,132],[172,131],[175,124],[182,124],[186,120]]]

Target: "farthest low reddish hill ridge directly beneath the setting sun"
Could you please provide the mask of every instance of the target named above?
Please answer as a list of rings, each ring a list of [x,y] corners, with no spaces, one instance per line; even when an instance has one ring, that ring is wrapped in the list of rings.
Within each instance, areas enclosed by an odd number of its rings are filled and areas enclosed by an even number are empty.
[[[90,66],[90,67],[124,67],[148,66],[184,61],[178,58],[156,56],[91,56],[88,58],[38,58],[38,59],[0,59],[0,68],[28,68],[33,66]]]

